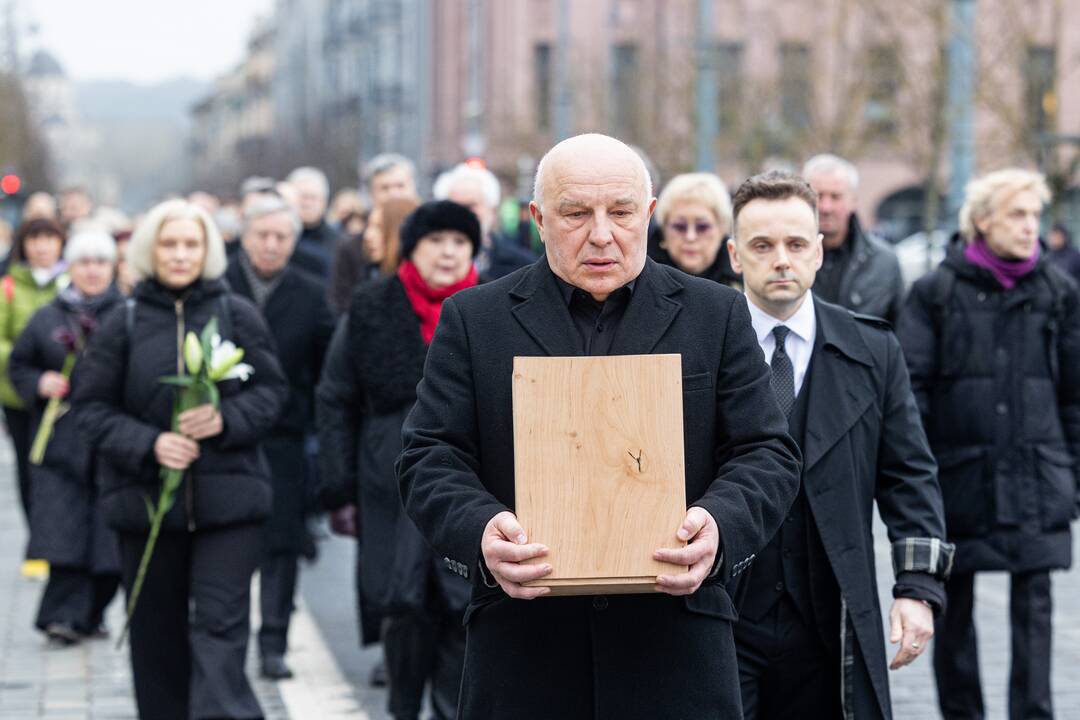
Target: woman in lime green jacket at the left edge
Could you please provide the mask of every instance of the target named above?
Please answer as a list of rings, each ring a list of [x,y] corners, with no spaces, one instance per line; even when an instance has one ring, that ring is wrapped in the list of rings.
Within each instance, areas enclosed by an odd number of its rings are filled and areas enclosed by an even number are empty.
[[[48,303],[66,283],[64,274],[64,230],[54,220],[37,218],[19,226],[12,247],[12,263],[0,277],[0,404],[11,443],[15,448],[19,500],[27,521],[30,518],[30,416],[8,377],[8,358],[23,328],[38,308]],[[29,556],[28,556],[29,557]],[[39,563],[42,565],[42,563]],[[43,575],[42,565],[24,567],[24,574]]]

